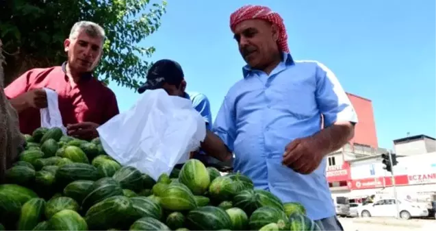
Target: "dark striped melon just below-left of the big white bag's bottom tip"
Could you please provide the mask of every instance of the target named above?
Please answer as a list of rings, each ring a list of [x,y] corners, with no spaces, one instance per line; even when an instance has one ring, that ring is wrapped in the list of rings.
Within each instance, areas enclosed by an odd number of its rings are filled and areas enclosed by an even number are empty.
[[[114,173],[112,178],[120,182],[123,189],[130,189],[135,192],[142,190],[142,173],[135,167],[122,167]]]

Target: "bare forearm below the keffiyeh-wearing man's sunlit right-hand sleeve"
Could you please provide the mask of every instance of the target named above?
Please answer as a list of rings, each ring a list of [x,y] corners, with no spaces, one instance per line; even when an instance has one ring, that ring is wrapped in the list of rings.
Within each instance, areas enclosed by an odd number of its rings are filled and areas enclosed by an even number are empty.
[[[352,123],[338,122],[321,130],[312,138],[317,143],[317,147],[321,147],[324,155],[327,155],[344,146],[354,134],[355,129]]]

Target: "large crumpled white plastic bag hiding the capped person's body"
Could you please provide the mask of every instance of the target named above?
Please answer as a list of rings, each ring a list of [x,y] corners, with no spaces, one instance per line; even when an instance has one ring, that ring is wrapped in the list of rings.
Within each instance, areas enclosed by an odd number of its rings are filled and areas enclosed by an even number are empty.
[[[191,101],[161,89],[146,90],[132,108],[97,131],[109,156],[154,180],[188,160],[206,137],[205,121]]]

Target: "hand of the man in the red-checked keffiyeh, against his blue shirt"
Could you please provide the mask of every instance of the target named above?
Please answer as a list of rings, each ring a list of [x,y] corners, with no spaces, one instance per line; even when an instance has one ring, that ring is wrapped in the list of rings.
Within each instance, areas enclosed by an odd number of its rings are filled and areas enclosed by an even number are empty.
[[[285,147],[283,165],[297,173],[312,173],[324,158],[324,151],[318,146],[312,137],[295,139]]]

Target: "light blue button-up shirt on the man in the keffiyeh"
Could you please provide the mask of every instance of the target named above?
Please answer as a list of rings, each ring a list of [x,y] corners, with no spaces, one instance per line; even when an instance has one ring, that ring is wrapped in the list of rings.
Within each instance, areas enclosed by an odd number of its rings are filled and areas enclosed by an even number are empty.
[[[337,78],[319,62],[294,62],[289,53],[283,53],[283,62],[270,75],[249,66],[243,73],[244,79],[227,93],[213,128],[234,152],[234,170],[283,202],[300,202],[311,219],[334,216],[326,158],[309,175],[281,162],[288,143],[320,132],[321,115],[324,127],[335,121],[357,123]]]

